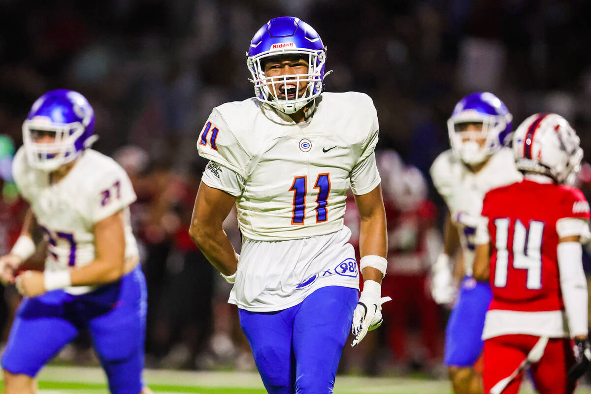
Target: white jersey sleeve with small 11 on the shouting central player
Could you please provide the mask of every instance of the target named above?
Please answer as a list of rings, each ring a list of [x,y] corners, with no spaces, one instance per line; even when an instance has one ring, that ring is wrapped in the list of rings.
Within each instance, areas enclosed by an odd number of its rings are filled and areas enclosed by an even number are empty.
[[[215,161],[241,177],[246,177],[249,155],[217,108],[213,109],[199,133],[197,150],[201,157]]]

